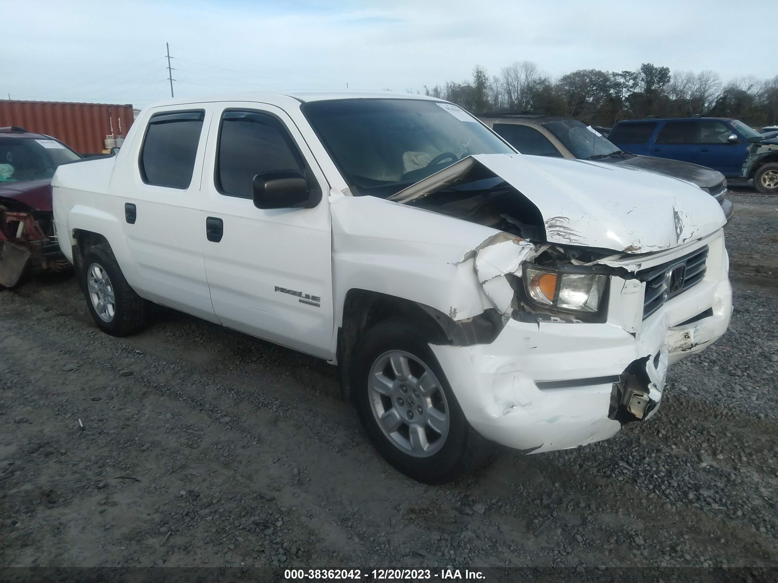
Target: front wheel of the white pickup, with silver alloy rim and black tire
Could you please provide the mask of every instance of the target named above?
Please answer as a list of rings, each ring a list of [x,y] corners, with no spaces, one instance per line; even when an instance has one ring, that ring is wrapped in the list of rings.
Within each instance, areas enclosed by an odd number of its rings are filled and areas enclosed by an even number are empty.
[[[471,427],[418,321],[389,319],[367,331],[352,367],[363,427],[392,466],[445,484],[481,466],[493,445]]]

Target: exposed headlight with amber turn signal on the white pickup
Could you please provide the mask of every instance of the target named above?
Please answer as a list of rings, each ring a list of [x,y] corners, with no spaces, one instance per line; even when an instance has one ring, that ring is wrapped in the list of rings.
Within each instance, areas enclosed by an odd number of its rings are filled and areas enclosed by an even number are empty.
[[[586,268],[524,266],[524,290],[536,305],[561,312],[594,314],[604,304],[608,276]]]

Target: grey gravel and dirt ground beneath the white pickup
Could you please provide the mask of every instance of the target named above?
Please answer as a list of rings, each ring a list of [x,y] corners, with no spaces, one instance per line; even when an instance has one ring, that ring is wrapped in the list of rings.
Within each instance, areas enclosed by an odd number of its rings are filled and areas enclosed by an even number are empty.
[[[731,197],[731,328],[660,413],[446,487],[324,362],[165,309],[108,337],[70,278],[0,292],[0,566],[778,565],[778,197]]]

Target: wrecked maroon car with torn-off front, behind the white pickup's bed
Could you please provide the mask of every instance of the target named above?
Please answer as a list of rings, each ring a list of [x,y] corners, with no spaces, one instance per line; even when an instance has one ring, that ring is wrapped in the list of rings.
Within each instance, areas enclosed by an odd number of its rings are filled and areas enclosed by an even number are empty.
[[[82,157],[61,141],[23,127],[0,127],[0,288],[31,271],[64,271],[51,220],[51,177]]]

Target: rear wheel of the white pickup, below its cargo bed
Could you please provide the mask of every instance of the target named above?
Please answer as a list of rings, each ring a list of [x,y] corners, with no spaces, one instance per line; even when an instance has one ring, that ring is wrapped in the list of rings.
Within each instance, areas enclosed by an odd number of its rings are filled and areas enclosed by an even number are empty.
[[[103,332],[128,336],[149,325],[150,303],[130,287],[106,243],[89,247],[79,270],[89,314]]]

